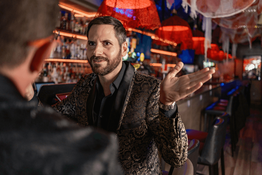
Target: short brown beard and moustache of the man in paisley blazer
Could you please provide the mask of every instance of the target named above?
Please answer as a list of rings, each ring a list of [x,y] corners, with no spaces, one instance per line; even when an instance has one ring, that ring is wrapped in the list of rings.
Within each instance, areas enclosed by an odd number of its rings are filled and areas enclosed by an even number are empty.
[[[90,57],[90,59],[89,58],[87,59],[92,68],[92,71],[95,74],[105,76],[111,73],[112,71],[114,71],[116,67],[120,64],[120,62],[122,61],[122,52],[120,49],[118,52],[118,55],[112,60],[109,60],[108,57],[102,57],[102,56],[96,57],[94,55]],[[102,67],[100,64],[93,64],[92,60],[104,60],[104,61],[107,61],[107,65],[105,67]]]

